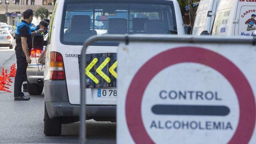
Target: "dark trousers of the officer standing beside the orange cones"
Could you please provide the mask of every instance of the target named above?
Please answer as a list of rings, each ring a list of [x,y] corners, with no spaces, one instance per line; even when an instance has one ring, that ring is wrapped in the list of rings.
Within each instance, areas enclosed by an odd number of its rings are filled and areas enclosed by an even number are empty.
[[[22,52],[21,47],[16,47],[15,49],[16,53],[16,59],[17,59],[17,71],[16,71],[16,77],[14,81],[14,97],[24,96],[24,93],[22,93],[22,83],[24,81],[24,77],[26,76],[26,70],[28,67],[28,63],[26,60],[26,56],[24,55],[24,52]]]

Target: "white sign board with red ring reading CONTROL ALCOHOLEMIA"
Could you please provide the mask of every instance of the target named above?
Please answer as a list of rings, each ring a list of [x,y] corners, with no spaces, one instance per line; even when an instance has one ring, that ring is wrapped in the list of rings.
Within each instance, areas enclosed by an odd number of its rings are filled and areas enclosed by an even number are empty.
[[[256,47],[121,43],[117,143],[255,144]]]

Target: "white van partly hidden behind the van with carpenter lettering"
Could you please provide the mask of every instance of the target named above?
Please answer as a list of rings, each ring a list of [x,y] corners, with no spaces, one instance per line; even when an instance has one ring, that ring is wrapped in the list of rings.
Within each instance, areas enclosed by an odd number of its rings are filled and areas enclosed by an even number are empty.
[[[219,2],[220,0],[200,1],[195,15],[192,35],[200,35],[203,31],[210,33]]]

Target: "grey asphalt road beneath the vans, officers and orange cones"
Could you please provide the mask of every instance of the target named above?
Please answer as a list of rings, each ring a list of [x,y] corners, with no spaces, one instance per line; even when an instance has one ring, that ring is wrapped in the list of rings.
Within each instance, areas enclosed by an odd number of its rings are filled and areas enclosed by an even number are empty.
[[[0,68],[16,63],[14,49],[0,47]],[[0,69],[0,70],[1,70]],[[13,78],[14,81],[14,78]],[[13,91],[14,84],[10,86]],[[47,137],[44,129],[44,94],[29,95],[29,101],[14,101],[13,92],[0,91],[0,143],[78,143],[80,122],[62,125],[60,137]],[[116,143],[116,123],[88,120],[88,144]]]

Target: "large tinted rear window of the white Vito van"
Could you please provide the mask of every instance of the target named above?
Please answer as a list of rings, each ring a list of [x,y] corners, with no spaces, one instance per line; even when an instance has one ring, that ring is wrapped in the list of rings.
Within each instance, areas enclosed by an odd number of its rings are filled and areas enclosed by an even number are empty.
[[[90,36],[107,34],[177,34],[172,1],[109,1],[66,2],[61,42],[83,45]],[[95,42],[93,45],[117,46],[118,43]]]

